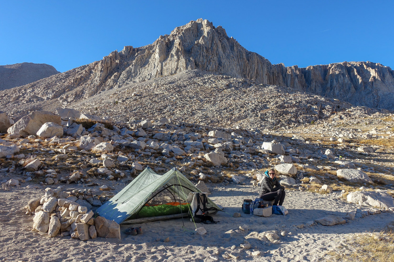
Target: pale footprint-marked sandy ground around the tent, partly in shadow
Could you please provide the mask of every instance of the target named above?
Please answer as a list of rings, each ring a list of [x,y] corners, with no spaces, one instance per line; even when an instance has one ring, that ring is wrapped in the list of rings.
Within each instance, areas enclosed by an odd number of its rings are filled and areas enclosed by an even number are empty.
[[[26,189],[23,183],[20,188],[11,191],[0,190],[0,249],[1,261],[46,261],[46,262],[80,262],[80,261],[225,261],[224,254],[239,255],[238,261],[324,261],[327,251],[335,249],[346,238],[354,237],[354,233],[380,231],[394,220],[394,215],[381,213],[356,218],[344,225],[315,225],[298,229],[296,225],[324,216],[336,214],[344,216],[349,211],[355,212],[357,205],[339,199],[339,193],[321,195],[310,192],[288,191],[284,206],[289,214],[275,215],[268,218],[243,214],[240,206],[243,199],[255,198],[257,188],[251,185],[218,185],[207,184],[212,189],[210,198],[225,207],[224,212],[214,215],[218,224],[203,226],[206,235],[195,235],[195,225],[188,219],[165,220],[135,224],[143,228],[143,234],[130,236],[124,231],[130,225],[121,225],[121,240],[113,238],[89,239],[85,242],[71,239],[70,236],[49,238],[46,234],[31,232],[33,216],[25,214],[24,205],[34,196],[43,195],[43,188]],[[119,191],[122,186],[119,185]],[[55,188],[55,187],[54,187]],[[63,189],[76,189],[76,185]],[[234,218],[234,212],[242,213],[242,217]],[[248,225],[248,231],[228,232],[238,229],[240,225]],[[133,225],[133,226],[135,226]],[[252,249],[245,250],[240,244],[245,236],[256,231],[258,233],[277,230],[286,231],[281,236],[280,244],[262,242],[256,238],[247,240]],[[290,233],[291,232],[291,233]],[[164,239],[169,237],[169,242]],[[231,247],[235,245],[234,250]],[[251,252],[259,250],[260,256]],[[232,260],[232,259],[230,259]]]

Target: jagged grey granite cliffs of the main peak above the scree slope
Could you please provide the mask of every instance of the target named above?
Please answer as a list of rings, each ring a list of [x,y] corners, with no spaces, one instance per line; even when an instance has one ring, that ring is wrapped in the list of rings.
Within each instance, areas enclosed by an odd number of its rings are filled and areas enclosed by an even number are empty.
[[[249,52],[221,26],[198,19],[140,48],[125,46],[100,61],[0,92],[0,108],[59,99],[63,104],[186,70],[246,78],[262,84],[287,86],[349,103],[394,110],[394,71],[372,62],[285,67]]]

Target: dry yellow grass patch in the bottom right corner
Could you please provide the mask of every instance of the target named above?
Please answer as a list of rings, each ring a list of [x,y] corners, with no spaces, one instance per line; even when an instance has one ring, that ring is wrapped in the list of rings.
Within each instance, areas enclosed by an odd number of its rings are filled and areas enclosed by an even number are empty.
[[[394,262],[394,232],[360,233],[348,238],[335,251],[331,261]]]

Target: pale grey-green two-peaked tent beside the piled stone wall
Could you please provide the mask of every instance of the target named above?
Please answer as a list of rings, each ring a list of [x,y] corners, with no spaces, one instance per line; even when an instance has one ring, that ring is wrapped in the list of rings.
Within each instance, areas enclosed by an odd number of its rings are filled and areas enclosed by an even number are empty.
[[[100,216],[117,223],[122,223],[128,218],[140,218],[138,216],[141,210],[150,206],[159,206],[158,208],[168,204],[165,202],[179,203],[178,213],[171,215],[160,214],[160,210],[155,211],[154,217],[149,217],[141,222],[155,221],[161,219],[169,219],[182,217],[187,215],[188,209],[183,209],[180,205],[187,205],[186,200],[190,192],[201,192],[193,183],[191,183],[179,170],[173,168],[163,175],[156,174],[150,167],[137,176],[122,191],[117,193],[111,200],[97,209]],[[158,204],[158,205],[153,205]],[[166,209],[168,205],[165,206]],[[186,206],[187,207],[187,206]],[[207,204],[210,214],[217,211],[223,211],[212,200],[208,198]],[[152,209],[154,209],[152,207]],[[175,209],[175,207],[174,207]],[[163,211],[164,212],[164,211]],[[145,215],[149,216],[149,215]],[[143,217],[143,216],[142,216]],[[128,223],[125,221],[124,223]],[[137,223],[137,221],[129,223]]]

